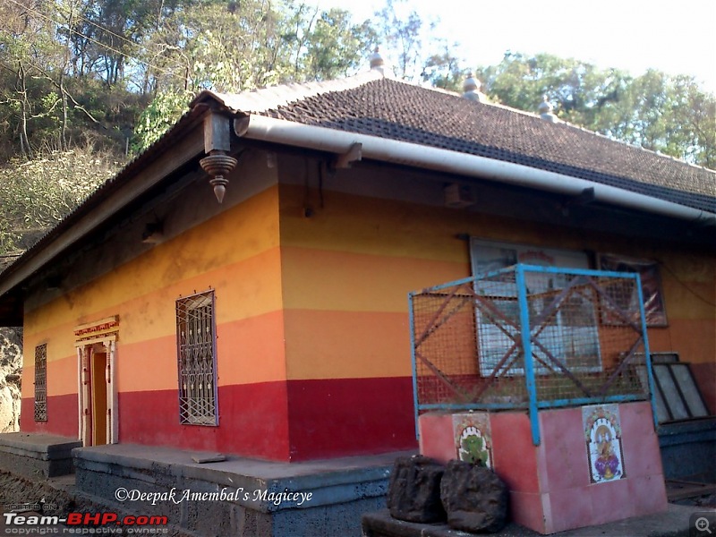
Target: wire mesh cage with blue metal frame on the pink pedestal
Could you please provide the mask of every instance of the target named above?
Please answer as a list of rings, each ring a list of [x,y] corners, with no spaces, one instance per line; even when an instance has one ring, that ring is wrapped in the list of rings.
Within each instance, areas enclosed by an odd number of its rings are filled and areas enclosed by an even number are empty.
[[[634,274],[516,265],[410,302],[419,412],[650,396]]]

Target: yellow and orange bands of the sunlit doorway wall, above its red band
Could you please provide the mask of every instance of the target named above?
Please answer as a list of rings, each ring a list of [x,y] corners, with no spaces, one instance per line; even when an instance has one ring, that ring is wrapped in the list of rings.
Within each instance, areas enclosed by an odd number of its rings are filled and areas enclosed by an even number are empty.
[[[73,328],[110,315],[119,316],[115,369],[119,393],[168,390],[176,399],[175,300],[209,288],[215,289],[217,355],[222,356],[217,365],[219,390],[285,384],[277,205],[275,185],[87,285],[27,311],[23,399],[34,396],[30,349],[42,343],[47,343],[48,405],[53,396],[76,395]],[[286,405],[283,413],[286,422]],[[77,413],[66,419],[76,430]],[[178,423],[178,408],[164,419]],[[31,420],[31,414],[23,415],[24,430],[52,431],[60,426]],[[72,429],[67,424],[62,427]],[[132,431],[120,431],[120,437],[132,441]]]

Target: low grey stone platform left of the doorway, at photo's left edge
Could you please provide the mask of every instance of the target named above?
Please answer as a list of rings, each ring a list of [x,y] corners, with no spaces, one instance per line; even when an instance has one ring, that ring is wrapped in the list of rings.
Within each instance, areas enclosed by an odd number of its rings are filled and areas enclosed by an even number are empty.
[[[48,434],[0,434],[0,468],[26,477],[56,477],[74,472],[72,449],[78,439]]]

